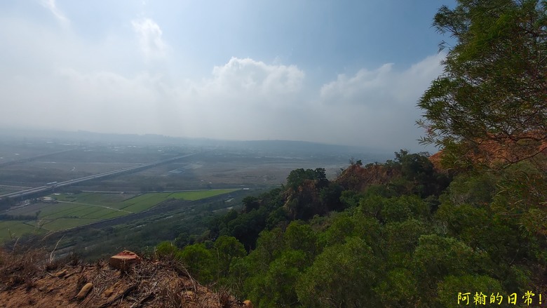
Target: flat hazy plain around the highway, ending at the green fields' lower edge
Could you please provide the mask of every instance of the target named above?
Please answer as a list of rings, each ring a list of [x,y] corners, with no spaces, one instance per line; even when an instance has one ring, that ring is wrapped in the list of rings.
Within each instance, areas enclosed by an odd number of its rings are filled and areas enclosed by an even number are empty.
[[[154,145],[122,139],[63,142],[55,138],[0,138],[0,194],[194,154],[53,188],[49,196],[54,203],[43,201],[43,196],[13,200],[11,208],[0,210],[0,214],[12,215],[0,221],[0,243],[22,234],[48,234],[124,216],[130,219],[129,215],[147,213],[170,199],[191,202],[226,194],[229,200],[236,190],[278,187],[296,168],[325,168],[327,177],[334,178],[349,158],[347,154],[304,153],[298,148]],[[15,217],[18,215],[25,217]]]

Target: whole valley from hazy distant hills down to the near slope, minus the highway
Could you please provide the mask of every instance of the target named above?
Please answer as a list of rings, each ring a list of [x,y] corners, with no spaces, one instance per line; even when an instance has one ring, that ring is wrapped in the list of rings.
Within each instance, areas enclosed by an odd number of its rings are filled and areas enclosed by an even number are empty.
[[[192,155],[173,159],[187,154]],[[392,156],[278,140],[3,131],[0,194],[62,185],[25,198],[0,198],[0,214],[12,216],[0,221],[0,245],[23,234],[41,234],[40,243],[52,250],[62,239],[59,248],[65,253],[74,248],[98,256],[97,251],[112,253],[121,246],[155,246],[184,232],[201,234],[205,217],[241,208],[245,196],[279,187],[291,170],[325,168],[327,178],[335,178],[350,157],[368,163]],[[144,168],[131,170],[140,165]],[[55,202],[41,199],[46,194]]]

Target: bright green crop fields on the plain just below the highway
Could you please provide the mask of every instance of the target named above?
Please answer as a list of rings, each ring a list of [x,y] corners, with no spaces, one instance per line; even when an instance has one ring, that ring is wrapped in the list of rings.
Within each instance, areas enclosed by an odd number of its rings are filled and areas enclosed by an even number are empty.
[[[8,211],[8,215],[37,215],[37,220],[1,221],[0,242],[22,234],[59,231],[140,213],[168,199],[196,201],[239,189],[210,189],[192,192],[153,192],[147,194],[53,194],[56,203],[34,203]],[[11,234],[11,235],[10,235]]]

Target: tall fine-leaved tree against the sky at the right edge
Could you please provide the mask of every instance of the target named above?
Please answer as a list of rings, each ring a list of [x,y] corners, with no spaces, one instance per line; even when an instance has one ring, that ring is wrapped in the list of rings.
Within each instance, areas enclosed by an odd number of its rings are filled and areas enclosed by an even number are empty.
[[[433,25],[456,44],[419,100],[423,143],[443,147],[452,163],[514,163],[547,149],[546,9],[546,0],[439,9]]]

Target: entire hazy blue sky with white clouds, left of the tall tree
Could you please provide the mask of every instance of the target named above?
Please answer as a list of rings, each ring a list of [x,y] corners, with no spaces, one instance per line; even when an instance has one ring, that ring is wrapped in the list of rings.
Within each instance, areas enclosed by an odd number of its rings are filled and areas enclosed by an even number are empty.
[[[0,1],[0,125],[423,150],[443,4]]]

